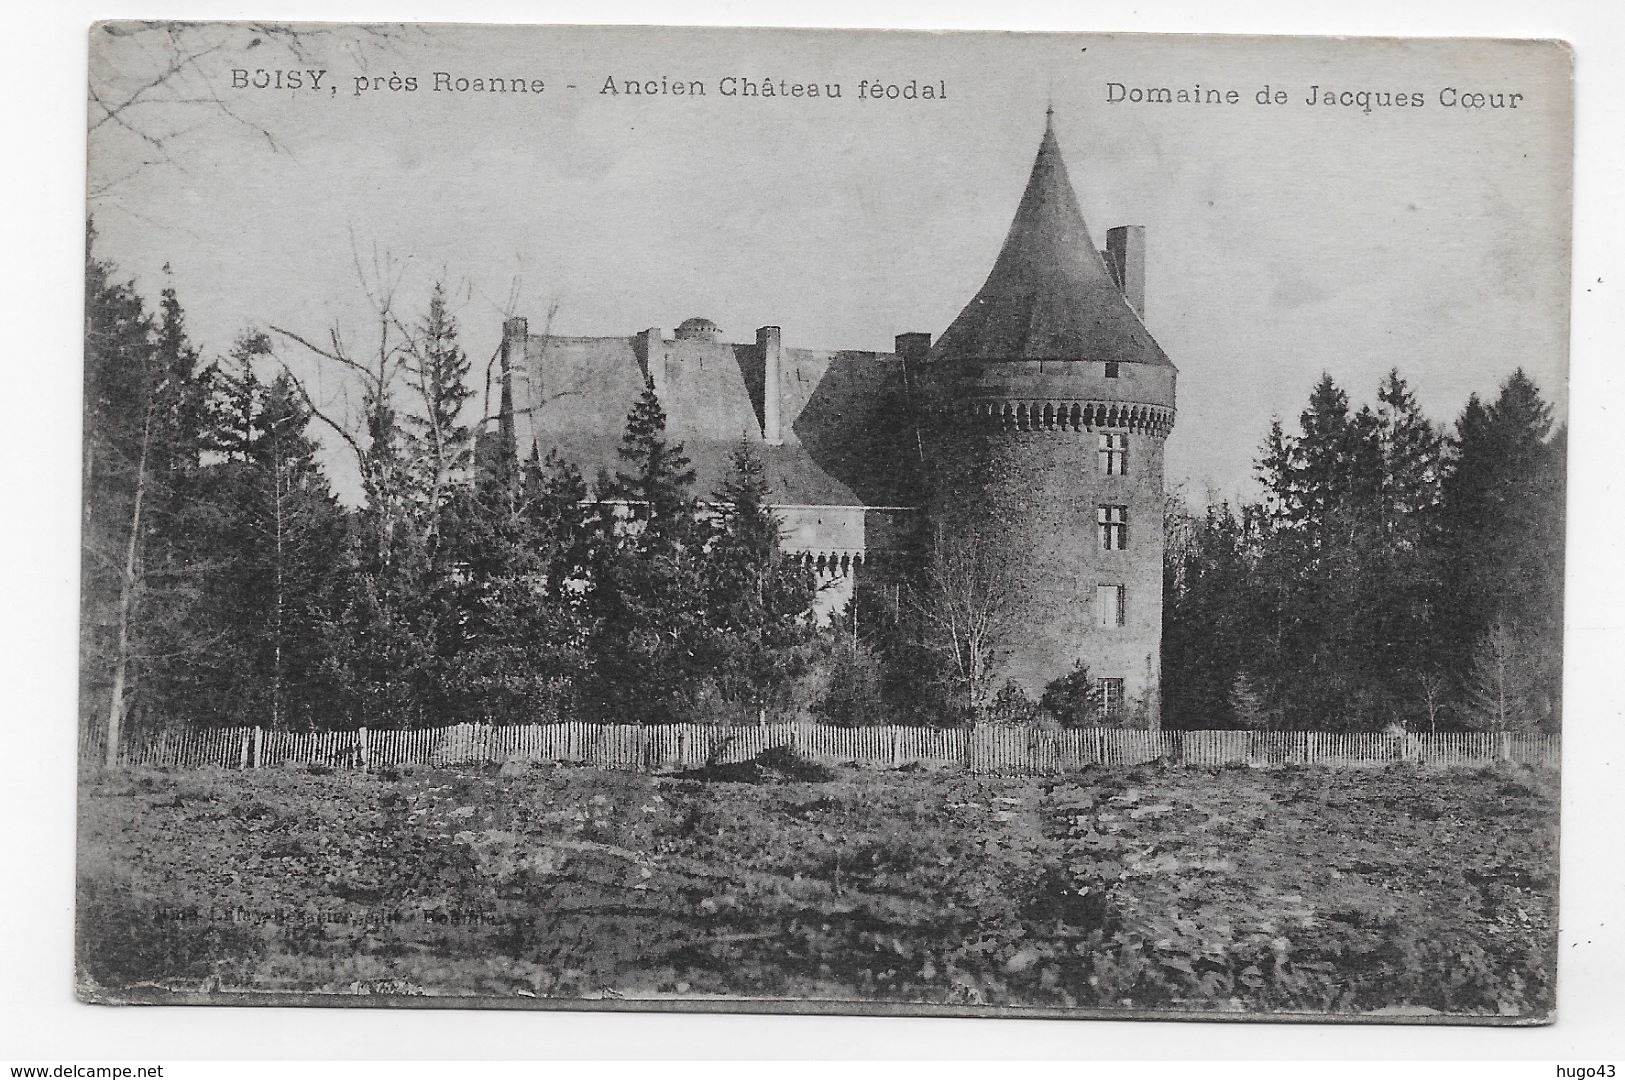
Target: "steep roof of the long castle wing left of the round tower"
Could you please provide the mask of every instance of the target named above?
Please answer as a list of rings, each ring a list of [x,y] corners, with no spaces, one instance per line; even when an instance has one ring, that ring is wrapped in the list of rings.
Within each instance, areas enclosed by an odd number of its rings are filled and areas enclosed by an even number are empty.
[[[887,352],[782,352],[782,445],[762,438],[764,365],[756,344],[674,339],[656,374],[666,434],[694,463],[694,490],[710,497],[748,440],[762,458],[777,505],[915,505],[918,450],[904,422],[902,362]],[[660,365],[655,357],[655,365]],[[626,414],[644,391],[634,338],[544,338],[526,343],[514,372],[517,440],[541,456],[557,450],[588,484],[621,468]]]

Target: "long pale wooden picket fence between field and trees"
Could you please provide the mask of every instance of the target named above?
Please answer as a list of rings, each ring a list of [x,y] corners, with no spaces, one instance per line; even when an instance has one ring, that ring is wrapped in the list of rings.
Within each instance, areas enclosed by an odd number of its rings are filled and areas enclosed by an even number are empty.
[[[942,767],[975,773],[1056,775],[1089,765],[1334,765],[1373,767],[1415,762],[1484,767],[1495,762],[1557,768],[1557,736],[1448,732],[1386,736],[1316,731],[1123,731],[1079,728],[1040,731],[1017,726],[933,729],[905,726],[835,728],[772,723],[748,728],[708,724],[457,724],[419,729],[266,731],[200,728],[156,732],[124,749],[125,765],[278,768],[330,765],[483,765],[572,762],[665,771],[707,762],[743,762],[770,747],[834,765],[879,768]],[[94,747],[86,760],[101,760]]]

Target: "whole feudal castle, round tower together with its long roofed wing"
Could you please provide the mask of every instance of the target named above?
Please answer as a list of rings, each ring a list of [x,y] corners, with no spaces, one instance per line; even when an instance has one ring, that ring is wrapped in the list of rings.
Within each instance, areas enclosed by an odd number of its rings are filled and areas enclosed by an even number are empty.
[[[1004,598],[996,685],[1038,697],[1082,661],[1107,713],[1136,703],[1157,724],[1176,372],[1144,313],[1144,229],[1095,248],[1046,120],[993,271],[934,344],[806,349],[778,326],[730,343],[705,318],[570,338],[509,318],[502,442],[613,474],[647,377],[702,497],[754,445],[785,549],[829,585],[822,607],[860,575],[970,552]]]

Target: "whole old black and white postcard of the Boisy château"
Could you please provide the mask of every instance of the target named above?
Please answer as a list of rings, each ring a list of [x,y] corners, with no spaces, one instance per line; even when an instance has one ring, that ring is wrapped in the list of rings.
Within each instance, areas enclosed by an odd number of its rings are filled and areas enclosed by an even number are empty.
[[[1560,1015],[1563,42],[88,42],[80,1000]]]

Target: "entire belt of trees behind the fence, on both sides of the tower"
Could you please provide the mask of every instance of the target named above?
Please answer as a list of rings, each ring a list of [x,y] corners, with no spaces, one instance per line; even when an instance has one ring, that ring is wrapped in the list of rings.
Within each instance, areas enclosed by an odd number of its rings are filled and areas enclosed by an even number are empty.
[[[89,244],[86,284],[81,711],[109,747],[172,723],[1147,723],[1144,703],[1103,715],[1086,663],[1038,700],[994,685],[1019,642],[986,552],[921,551],[816,620],[751,445],[697,492],[648,383],[592,484],[520,453],[510,401],[470,424],[474,367],[439,286],[416,318],[369,294],[364,349],[268,328],[205,359],[174,289],[150,309]],[[353,414],[284,346],[346,377]],[[1323,380],[1302,434],[1271,430],[1261,500],[1170,500],[1165,721],[1555,728],[1550,427],[1521,374],[1454,434],[1398,374],[1360,411]],[[354,507],[320,429],[353,460]]]

